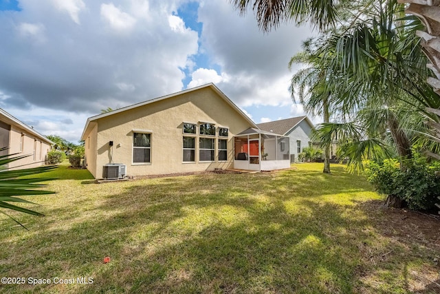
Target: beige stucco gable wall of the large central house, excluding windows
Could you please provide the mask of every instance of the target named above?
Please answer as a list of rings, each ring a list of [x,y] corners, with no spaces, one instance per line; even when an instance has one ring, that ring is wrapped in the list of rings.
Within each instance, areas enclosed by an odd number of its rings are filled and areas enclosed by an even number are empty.
[[[96,136],[96,147],[91,144],[86,153],[87,169],[95,178],[102,178],[102,166],[108,163],[126,165],[126,174],[129,176],[206,171],[220,167],[227,169],[232,167],[234,160],[234,135],[252,127],[248,120],[210,87],[104,116],[96,122],[96,133],[85,134],[90,140]],[[196,124],[197,134],[183,134],[183,123]],[[213,123],[216,136],[199,135],[201,123]],[[222,138],[219,137],[218,127],[229,129],[228,137],[225,138],[228,140],[228,160],[225,161],[219,161],[218,158],[219,138]],[[150,163],[133,163],[134,132],[151,134]],[[195,162],[183,162],[184,136],[195,137]],[[214,138],[213,162],[199,160],[201,137]],[[113,141],[112,147],[109,141]],[[96,150],[96,160],[91,155],[93,150]]]

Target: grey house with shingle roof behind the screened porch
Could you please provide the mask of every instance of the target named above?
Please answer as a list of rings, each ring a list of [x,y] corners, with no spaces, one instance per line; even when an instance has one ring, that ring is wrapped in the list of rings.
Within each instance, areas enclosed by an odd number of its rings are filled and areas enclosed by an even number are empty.
[[[259,123],[257,126],[266,132],[283,134],[290,138],[290,162],[298,161],[298,154],[304,147],[311,146],[310,133],[314,124],[307,116],[298,116],[282,120]]]

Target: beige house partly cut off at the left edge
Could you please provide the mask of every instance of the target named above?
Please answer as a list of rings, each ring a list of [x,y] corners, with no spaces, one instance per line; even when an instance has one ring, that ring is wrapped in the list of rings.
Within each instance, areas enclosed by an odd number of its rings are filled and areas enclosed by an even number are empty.
[[[9,169],[26,169],[44,165],[52,144],[51,140],[36,132],[32,127],[0,109],[0,147],[8,147],[8,150],[0,154],[29,155],[10,162]]]

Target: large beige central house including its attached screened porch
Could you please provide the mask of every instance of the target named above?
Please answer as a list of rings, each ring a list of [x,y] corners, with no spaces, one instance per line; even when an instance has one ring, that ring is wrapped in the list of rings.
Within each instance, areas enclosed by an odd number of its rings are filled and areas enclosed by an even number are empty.
[[[81,139],[95,178],[112,164],[129,176],[289,167],[288,138],[259,130],[212,83],[88,118]]]

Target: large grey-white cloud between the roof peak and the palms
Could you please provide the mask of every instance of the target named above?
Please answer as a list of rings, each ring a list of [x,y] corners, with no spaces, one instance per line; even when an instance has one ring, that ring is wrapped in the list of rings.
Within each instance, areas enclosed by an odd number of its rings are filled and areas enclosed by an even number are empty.
[[[309,28],[281,25],[264,34],[252,12],[239,16],[228,1],[202,1],[201,50],[220,65],[228,81],[219,87],[238,105],[292,105],[288,63],[301,49]],[[220,74],[220,75],[221,75]]]

